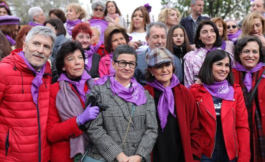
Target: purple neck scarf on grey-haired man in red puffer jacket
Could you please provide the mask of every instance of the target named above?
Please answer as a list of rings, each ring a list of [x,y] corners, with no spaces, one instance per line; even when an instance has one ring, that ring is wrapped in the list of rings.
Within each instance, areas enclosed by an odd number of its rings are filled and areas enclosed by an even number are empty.
[[[18,55],[24,60],[25,64],[27,65],[27,67],[36,75],[33,80],[32,80],[32,84],[31,84],[31,88],[30,88],[30,92],[32,95],[32,99],[33,102],[35,104],[38,103],[38,94],[39,94],[39,86],[42,84],[42,77],[45,71],[45,64],[42,66],[42,68],[40,69],[40,71],[36,71],[27,61],[27,59],[24,56],[24,52],[20,51],[18,53]]]

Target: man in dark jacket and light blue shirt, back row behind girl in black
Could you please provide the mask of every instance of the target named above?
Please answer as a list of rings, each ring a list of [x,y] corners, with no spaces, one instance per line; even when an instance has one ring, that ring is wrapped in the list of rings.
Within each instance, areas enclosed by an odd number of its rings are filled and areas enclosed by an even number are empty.
[[[196,29],[201,20],[210,19],[209,17],[201,16],[203,12],[203,0],[191,0],[191,14],[181,19],[180,24],[186,29],[190,44],[194,44],[194,36]]]

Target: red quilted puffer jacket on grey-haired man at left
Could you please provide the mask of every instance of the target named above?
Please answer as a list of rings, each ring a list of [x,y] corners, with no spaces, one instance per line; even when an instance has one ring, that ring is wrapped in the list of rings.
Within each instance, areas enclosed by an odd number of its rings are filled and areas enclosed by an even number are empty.
[[[39,87],[38,104],[31,96],[35,77],[16,52],[0,62],[0,162],[48,162],[47,119],[51,69]]]

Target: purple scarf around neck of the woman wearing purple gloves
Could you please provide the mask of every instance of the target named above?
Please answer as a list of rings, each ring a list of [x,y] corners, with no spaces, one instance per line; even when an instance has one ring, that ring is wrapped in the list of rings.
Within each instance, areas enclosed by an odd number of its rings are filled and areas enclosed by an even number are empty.
[[[67,81],[71,84],[74,84],[77,88],[78,94],[80,95],[81,99],[84,101],[84,103],[86,103],[86,93],[89,93],[90,90],[85,92],[84,87],[85,87],[86,81],[89,79],[91,79],[91,76],[87,73],[86,70],[84,70],[84,72],[81,76],[81,79],[78,82],[72,81],[64,73],[61,73],[58,81],[64,80],[64,81]]]

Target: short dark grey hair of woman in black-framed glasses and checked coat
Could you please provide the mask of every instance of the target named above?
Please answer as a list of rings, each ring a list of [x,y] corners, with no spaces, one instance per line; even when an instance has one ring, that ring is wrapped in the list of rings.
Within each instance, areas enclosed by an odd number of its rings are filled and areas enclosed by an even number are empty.
[[[113,52],[113,57],[112,60],[115,61],[117,60],[117,58],[121,55],[121,54],[133,54],[135,56],[135,62],[137,62],[137,54],[135,52],[135,50],[133,49],[133,47],[131,47],[128,44],[120,44],[118,45],[114,52]]]

